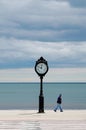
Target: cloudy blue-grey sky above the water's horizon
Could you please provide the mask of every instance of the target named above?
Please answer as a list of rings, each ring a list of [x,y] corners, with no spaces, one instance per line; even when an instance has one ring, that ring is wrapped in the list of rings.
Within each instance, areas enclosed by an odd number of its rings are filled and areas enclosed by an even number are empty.
[[[0,82],[86,82],[86,0],[0,0]]]

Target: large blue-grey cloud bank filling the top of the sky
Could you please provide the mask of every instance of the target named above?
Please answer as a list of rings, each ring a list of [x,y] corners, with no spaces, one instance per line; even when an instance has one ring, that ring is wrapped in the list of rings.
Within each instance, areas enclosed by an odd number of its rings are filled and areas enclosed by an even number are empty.
[[[71,2],[71,1],[70,1]],[[0,1],[0,37],[41,41],[86,40],[86,10],[68,1]]]

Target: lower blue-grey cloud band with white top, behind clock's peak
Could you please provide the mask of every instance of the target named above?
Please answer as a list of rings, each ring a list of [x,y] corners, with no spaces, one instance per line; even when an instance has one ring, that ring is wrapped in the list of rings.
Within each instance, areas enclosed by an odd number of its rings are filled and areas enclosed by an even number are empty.
[[[86,64],[85,42],[39,42],[3,38],[0,43],[0,68],[3,64],[10,67],[31,67],[40,56],[45,57],[51,67],[85,67]]]

